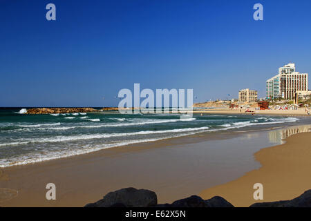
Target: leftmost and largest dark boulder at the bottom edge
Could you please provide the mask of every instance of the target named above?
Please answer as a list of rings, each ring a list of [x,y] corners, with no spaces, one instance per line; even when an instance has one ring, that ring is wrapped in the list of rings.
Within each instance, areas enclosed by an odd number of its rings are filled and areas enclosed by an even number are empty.
[[[110,192],[102,200],[86,204],[86,207],[149,207],[156,204],[158,198],[155,192],[129,187]]]

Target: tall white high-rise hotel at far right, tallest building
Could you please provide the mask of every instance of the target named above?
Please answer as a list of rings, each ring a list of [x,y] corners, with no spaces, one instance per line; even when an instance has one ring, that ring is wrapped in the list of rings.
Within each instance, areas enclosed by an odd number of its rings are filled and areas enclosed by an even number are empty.
[[[294,99],[297,91],[308,91],[308,73],[296,72],[293,63],[279,68],[279,74],[267,80],[267,99]]]

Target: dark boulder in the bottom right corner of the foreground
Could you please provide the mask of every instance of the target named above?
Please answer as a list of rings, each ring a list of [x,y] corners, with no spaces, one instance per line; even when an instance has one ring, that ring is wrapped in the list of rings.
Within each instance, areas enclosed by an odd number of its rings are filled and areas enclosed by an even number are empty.
[[[311,190],[305,191],[299,197],[292,200],[258,202],[249,207],[311,207]]]

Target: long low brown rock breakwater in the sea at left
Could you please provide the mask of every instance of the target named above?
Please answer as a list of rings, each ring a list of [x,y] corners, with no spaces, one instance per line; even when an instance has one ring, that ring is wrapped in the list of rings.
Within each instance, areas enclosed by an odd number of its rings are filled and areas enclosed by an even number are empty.
[[[28,115],[42,115],[51,113],[86,113],[97,112],[94,108],[30,108],[27,110]]]

